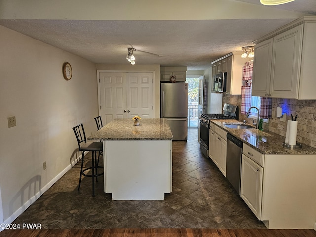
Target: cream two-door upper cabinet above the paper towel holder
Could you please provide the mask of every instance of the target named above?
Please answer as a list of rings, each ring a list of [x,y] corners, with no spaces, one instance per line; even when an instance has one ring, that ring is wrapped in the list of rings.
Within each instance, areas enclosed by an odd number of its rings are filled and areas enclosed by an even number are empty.
[[[316,17],[312,16],[255,41],[252,95],[316,99],[312,86],[316,75],[315,39]]]

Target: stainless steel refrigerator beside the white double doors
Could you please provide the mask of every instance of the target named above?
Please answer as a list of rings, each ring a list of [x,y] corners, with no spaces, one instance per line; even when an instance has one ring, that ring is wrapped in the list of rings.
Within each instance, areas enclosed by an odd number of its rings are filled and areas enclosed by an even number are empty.
[[[188,137],[188,83],[161,83],[160,115],[166,118],[173,140]]]

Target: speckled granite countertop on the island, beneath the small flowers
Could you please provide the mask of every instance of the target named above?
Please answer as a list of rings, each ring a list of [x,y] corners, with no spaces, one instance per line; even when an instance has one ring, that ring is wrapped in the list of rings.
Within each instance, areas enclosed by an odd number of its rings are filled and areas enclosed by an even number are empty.
[[[114,119],[88,140],[171,140],[173,138],[166,119],[142,118],[135,126],[132,119]]]

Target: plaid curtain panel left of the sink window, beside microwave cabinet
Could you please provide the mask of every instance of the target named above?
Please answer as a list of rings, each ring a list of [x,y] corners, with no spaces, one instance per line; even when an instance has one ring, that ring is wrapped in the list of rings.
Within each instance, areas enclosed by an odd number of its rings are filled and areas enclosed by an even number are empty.
[[[246,62],[242,67],[241,114],[247,114],[251,106],[252,71],[253,60]]]

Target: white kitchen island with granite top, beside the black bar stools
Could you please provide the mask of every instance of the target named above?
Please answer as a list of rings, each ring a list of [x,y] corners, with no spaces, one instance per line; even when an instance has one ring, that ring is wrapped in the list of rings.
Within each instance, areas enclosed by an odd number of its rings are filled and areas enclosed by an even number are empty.
[[[113,200],[163,200],[172,191],[172,133],[166,119],[115,119],[88,140],[103,141],[104,192]]]

